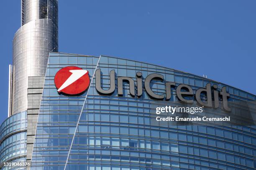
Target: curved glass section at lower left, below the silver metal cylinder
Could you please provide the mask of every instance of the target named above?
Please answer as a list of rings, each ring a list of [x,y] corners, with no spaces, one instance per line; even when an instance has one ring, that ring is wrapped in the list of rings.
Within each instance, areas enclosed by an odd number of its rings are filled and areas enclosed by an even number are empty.
[[[8,117],[0,127],[0,134],[0,170],[26,169],[4,166],[4,163],[26,162],[26,112]]]

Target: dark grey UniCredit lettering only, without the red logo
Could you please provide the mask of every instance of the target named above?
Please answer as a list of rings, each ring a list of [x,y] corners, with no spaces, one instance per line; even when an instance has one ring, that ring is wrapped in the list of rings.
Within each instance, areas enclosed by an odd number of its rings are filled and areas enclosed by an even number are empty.
[[[115,70],[110,71],[110,88],[108,90],[103,90],[101,87],[101,71],[100,69],[97,69],[95,72],[95,79],[96,79],[96,90],[101,95],[111,95],[113,92],[115,92]],[[136,73],[136,79],[137,79],[137,85],[135,85],[134,80],[131,77],[117,77],[118,82],[118,95],[123,95],[123,82],[129,83],[130,86],[130,95],[132,97],[141,97],[142,95],[142,87],[143,87],[143,81],[142,81],[142,73],[137,72]],[[164,81],[164,76],[160,74],[150,74],[148,75],[144,80],[144,88],[146,90],[146,93],[149,97],[155,100],[170,100],[171,98],[171,87],[176,88],[176,94],[180,101],[192,104],[194,100],[187,100],[184,97],[194,97],[194,99],[197,101],[199,105],[205,106],[205,107],[213,107],[218,108],[219,107],[219,95],[222,96],[223,100],[223,108],[225,111],[230,112],[231,109],[228,107],[228,97],[230,96],[227,93],[226,87],[222,87],[221,91],[219,92],[218,85],[213,85],[211,87],[211,84],[208,83],[205,88],[200,88],[196,91],[196,93],[193,93],[192,88],[189,85],[185,84],[179,84],[176,87],[175,82],[165,82],[166,86],[166,96],[163,94],[159,95],[152,91],[150,87],[151,80],[159,80]],[[137,86],[137,94],[135,94],[135,86]],[[203,102],[201,100],[200,95],[204,93],[207,96],[207,102]],[[212,97],[214,99],[214,103],[212,103]]]

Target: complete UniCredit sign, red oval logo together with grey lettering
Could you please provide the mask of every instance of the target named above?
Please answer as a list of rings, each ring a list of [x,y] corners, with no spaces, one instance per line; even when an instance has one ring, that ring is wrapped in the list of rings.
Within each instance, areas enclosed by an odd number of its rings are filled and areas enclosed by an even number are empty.
[[[100,95],[111,95],[115,92],[115,70],[110,71],[110,87],[108,90],[104,90],[101,87],[101,70],[97,69],[95,72],[95,79],[96,79],[96,90]],[[127,82],[129,84],[129,90],[131,97],[141,97],[142,96],[142,88],[145,88],[146,93],[148,96],[155,100],[170,100],[171,98],[171,88],[176,89],[177,97],[180,101],[192,104],[194,99],[197,101],[199,105],[205,107],[219,107],[219,96],[222,97],[223,108],[225,111],[230,112],[231,109],[228,107],[228,97],[230,96],[227,93],[226,87],[222,87],[221,91],[218,91],[218,85],[213,85],[208,83],[205,88],[199,88],[197,91],[193,92],[192,88],[186,84],[179,84],[176,85],[175,82],[165,82],[166,91],[165,94],[156,94],[151,89],[150,84],[152,83],[151,80],[159,80],[161,82],[164,81],[164,76],[161,74],[150,74],[148,75],[144,83],[142,81],[142,73],[136,73],[136,85],[134,80],[131,77],[117,77],[117,87],[118,87],[118,95],[123,96],[123,82]],[[54,77],[55,86],[57,87],[58,92],[63,92],[68,95],[77,95],[84,92],[90,84],[90,77],[89,72],[87,70],[83,70],[80,67],[68,66],[64,67],[59,70],[55,77]],[[136,86],[136,94],[135,94],[135,86]],[[207,96],[207,102],[203,102],[201,100],[200,95],[205,94]],[[184,97],[190,97],[192,99],[186,99]],[[212,99],[214,102],[212,103]]]

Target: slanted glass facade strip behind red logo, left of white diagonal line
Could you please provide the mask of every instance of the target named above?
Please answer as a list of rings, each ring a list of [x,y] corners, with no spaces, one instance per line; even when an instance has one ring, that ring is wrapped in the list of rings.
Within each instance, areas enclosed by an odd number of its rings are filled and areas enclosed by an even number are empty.
[[[52,53],[50,56],[54,57],[49,58],[49,67],[46,70],[31,169],[47,166],[50,169],[64,169],[87,95],[87,92],[79,96],[59,95],[54,85],[56,72],[62,67],[74,65],[88,70],[91,77],[99,59],[58,53]]]

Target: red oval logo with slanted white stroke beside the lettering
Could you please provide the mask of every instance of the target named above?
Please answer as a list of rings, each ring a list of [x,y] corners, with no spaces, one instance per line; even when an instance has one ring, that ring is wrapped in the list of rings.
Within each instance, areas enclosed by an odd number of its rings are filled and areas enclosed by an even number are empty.
[[[63,92],[68,95],[77,95],[89,87],[89,72],[80,67],[64,67],[56,73],[54,83],[58,92]]]

